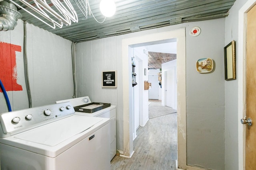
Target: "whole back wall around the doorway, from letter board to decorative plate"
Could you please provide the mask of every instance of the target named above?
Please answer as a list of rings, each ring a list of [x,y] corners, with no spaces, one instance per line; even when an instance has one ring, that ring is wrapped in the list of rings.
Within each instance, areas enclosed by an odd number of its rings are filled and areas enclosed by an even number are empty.
[[[190,29],[194,26],[199,26],[202,29],[198,37],[191,37],[189,35]],[[118,106],[117,147],[119,150],[123,150],[123,139],[128,140],[128,137],[124,136],[124,130],[126,132],[132,131],[132,129],[123,129],[124,121],[126,121],[126,123],[132,122],[130,117],[124,117],[123,111],[132,110],[132,108],[123,109],[122,104],[125,102],[131,103],[132,100],[123,101],[122,95],[124,93],[129,94],[130,90],[132,90],[132,86],[131,84],[122,84],[123,78],[131,78],[130,70],[124,70],[122,68],[122,47],[120,47],[122,40],[142,35],[150,36],[152,33],[170,31],[182,27],[186,27],[186,47],[184,47],[184,50],[186,50],[187,86],[187,163],[191,166],[201,166],[216,170],[224,169],[224,18],[182,23],[78,43],[77,63],[83,64],[83,66],[78,67],[77,72],[80,72],[78,78],[84,80],[78,83],[80,84],[78,87],[79,95],[91,95],[90,97],[93,101],[105,100]],[[216,31],[218,34],[215,33]],[[102,57],[103,55],[105,57]],[[196,61],[206,56],[214,60],[216,67],[214,71],[209,74],[200,74],[195,69]],[[177,58],[178,57],[179,56],[177,56]],[[130,66],[129,63],[131,59],[125,60],[128,61],[127,64]],[[102,64],[106,62],[112,64]],[[109,68],[106,68],[106,66]],[[130,69],[130,67],[128,68]],[[101,88],[100,72],[105,69],[117,70],[117,89]],[[125,75],[127,75],[127,77],[122,77],[123,71],[126,72]],[[177,70],[177,72],[178,71],[179,70]],[[85,86],[85,80],[91,81],[87,87]],[[124,87],[127,89],[127,86],[129,86],[128,89],[130,90],[123,92],[122,89]],[[210,94],[210,97],[208,94]],[[132,138],[132,136],[130,138]],[[126,141],[125,143],[131,142],[132,141]],[[124,150],[124,152],[126,152],[126,150]]]

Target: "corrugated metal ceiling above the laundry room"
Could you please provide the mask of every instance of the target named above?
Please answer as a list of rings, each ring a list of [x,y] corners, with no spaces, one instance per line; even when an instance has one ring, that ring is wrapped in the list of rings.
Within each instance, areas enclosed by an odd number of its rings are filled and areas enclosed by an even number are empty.
[[[70,2],[79,21],[62,28],[52,29],[24,10],[18,11],[22,14],[22,20],[28,23],[70,41],[80,42],[178,24],[205,16],[225,17],[235,0],[115,0],[115,15],[106,18],[103,23],[96,22],[92,16],[85,19],[74,0]],[[89,3],[95,18],[104,20],[99,10],[100,0],[89,0]],[[205,17],[204,20],[206,19],[210,18]]]

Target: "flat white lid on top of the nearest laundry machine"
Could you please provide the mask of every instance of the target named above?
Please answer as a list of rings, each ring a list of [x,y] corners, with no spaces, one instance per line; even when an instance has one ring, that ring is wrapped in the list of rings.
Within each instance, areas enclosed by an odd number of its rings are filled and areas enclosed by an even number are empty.
[[[15,138],[53,147],[76,134],[86,131],[102,119],[73,115],[16,135]]]

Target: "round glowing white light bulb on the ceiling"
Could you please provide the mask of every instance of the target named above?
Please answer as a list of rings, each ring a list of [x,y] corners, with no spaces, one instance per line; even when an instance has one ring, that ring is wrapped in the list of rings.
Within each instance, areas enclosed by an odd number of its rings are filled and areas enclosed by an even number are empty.
[[[106,17],[113,16],[116,12],[116,4],[114,0],[102,0],[100,2],[100,12]]]

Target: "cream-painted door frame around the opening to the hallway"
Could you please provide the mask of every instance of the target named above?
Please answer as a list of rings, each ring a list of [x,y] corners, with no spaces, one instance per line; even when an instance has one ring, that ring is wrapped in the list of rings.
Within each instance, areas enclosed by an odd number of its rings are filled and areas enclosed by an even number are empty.
[[[177,39],[177,113],[178,113],[178,167],[186,166],[186,37],[185,28],[153,33],[122,40],[122,77],[123,77],[123,155],[131,157],[133,150],[133,99],[132,99],[132,48],[146,45],[147,42]],[[146,68],[146,67],[144,67]],[[145,91],[145,90],[144,90]],[[140,98],[141,99],[141,98]],[[143,98],[143,100],[148,100]],[[143,102],[144,103],[144,102]],[[143,105],[143,107],[147,107]],[[146,109],[143,111],[146,111]],[[143,117],[144,120],[148,117]]]

